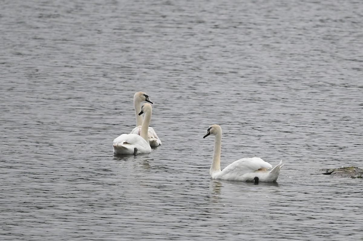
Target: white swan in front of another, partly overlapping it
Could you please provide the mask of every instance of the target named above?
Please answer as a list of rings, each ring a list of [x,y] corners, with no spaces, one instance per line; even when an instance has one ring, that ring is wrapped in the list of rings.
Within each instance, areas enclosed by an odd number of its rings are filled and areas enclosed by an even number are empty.
[[[152,108],[151,105],[145,103],[141,107],[139,115],[145,113],[144,120],[142,121],[140,136],[137,134],[122,134],[117,137],[113,142],[113,149],[115,154],[145,154],[151,152],[151,147],[147,139],[147,130],[150,125]]]

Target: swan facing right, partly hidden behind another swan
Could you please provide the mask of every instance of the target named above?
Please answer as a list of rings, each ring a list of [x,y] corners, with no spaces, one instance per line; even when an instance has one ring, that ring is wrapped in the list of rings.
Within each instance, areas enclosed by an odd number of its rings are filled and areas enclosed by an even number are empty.
[[[145,92],[139,91],[139,92],[135,93],[134,108],[135,108],[135,116],[136,116],[136,127],[130,132],[130,134],[140,135],[142,116],[139,115],[139,113],[141,111],[140,106],[141,106],[142,101],[147,101],[147,102],[150,102],[151,104],[153,104],[151,102],[151,100],[149,99],[149,96]],[[161,141],[160,141],[158,135],[156,134],[155,130],[152,127],[149,126],[147,133],[148,133],[147,137],[148,137],[150,146],[160,146],[161,145]]]

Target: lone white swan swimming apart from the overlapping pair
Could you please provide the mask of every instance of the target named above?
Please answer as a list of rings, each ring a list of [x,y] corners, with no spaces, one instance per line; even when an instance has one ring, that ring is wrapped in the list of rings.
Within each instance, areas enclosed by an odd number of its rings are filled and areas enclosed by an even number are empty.
[[[211,170],[209,173],[214,179],[236,180],[236,181],[254,181],[255,177],[260,182],[276,182],[280,169],[284,164],[282,161],[276,165],[272,170],[272,166],[258,157],[242,158],[239,159],[225,169],[221,170],[221,142],[222,142],[222,129],[219,125],[211,125],[207,130],[207,137],[210,134],[215,135],[213,160]],[[257,182],[258,182],[257,181]]]

